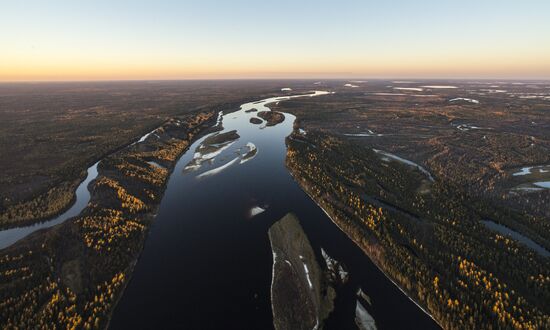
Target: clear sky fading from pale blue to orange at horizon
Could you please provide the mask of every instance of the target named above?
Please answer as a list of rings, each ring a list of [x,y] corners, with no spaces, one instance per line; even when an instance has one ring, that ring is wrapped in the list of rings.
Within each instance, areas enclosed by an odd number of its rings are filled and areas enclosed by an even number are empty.
[[[548,0],[0,0],[0,81],[550,78]]]

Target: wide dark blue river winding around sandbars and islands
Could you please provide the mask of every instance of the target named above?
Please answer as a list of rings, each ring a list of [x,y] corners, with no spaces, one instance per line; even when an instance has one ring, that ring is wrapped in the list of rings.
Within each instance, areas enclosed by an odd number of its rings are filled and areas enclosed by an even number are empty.
[[[223,132],[236,130],[240,138],[208,155],[200,153],[202,138],[179,159],[111,328],[272,329],[267,231],[288,212],[301,220],[321,265],[323,248],[350,272],[326,328],[357,329],[359,288],[371,298],[365,307],[379,329],[437,328],[290,176],[285,137],[295,117],[285,114],[272,127],[249,122],[256,113],[247,110],[269,110],[267,104],[286,99],[224,114]],[[257,153],[245,159],[252,145]]]

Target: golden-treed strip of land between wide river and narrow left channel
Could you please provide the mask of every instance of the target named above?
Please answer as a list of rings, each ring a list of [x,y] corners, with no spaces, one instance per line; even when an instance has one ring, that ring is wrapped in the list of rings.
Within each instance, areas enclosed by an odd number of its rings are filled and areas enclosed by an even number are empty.
[[[172,119],[156,130],[157,136],[107,156],[90,185],[90,203],[77,218],[4,250],[0,269],[10,271],[1,278],[7,284],[0,289],[2,327],[105,327],[177,159],[216,121],[214,111]]]

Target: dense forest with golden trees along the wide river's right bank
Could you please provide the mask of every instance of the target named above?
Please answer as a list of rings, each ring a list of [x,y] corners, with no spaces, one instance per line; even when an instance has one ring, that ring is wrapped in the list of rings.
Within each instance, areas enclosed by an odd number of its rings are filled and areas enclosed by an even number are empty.
[[[341,136],[295,132],[287,144],[302,188],[444,328],[550,328],[549,259],[480,222],[498,216],[547,238],[548,219],[472,198]]]

